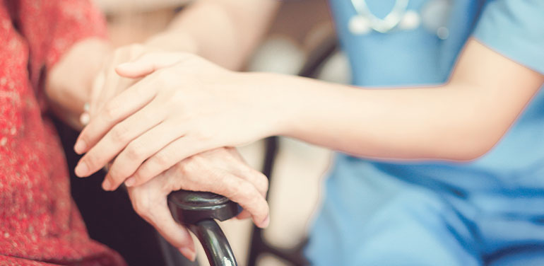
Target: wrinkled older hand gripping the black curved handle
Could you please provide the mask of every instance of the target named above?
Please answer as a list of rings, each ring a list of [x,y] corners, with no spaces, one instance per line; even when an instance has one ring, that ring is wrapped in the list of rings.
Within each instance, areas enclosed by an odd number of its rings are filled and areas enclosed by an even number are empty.
[[[177,224],[167,206],[167,195],[177,190],[214,192],[244,208],[238,218],[251,214],[257,226],[268,226],[266,176],[250,168],[233,148],[220,148],[191,156],[148,183],[128,187],[132,206],[159,233],[190,260],[194,243],[189,231]]]

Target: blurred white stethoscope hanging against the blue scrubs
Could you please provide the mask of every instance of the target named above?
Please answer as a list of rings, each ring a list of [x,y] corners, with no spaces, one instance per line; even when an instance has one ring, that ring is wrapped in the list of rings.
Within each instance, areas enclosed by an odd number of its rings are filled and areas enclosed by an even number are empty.
[[[395,30],[413,30],[424,24],[427,30],[445,40],[449,35],[446,19],[450,0],[429,1],[421,11],[408,9],[409,0],[396,0],[391,11],[384,17],[378,18],[370,10],[366,0],[350,0],[355,15],[348,21],[348,29],[353,35],[366,35],[373,30],[377,33],[391,33]]]

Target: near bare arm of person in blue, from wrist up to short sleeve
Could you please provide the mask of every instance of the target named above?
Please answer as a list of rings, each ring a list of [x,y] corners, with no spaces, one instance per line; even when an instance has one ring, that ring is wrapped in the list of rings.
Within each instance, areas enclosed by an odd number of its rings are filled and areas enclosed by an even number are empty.
[[[469,40],[448,83],[432,88],[358,89],[271,74],[289,88],[279,134],[372,158],[466,161],[489,151],[544,76]],[[298,89],[292,89],[298,88]]]

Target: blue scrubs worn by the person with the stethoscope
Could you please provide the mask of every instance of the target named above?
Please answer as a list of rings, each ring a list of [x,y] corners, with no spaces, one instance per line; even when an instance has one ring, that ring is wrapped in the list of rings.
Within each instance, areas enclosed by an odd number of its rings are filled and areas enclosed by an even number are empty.
[[[421,11],[432,1],[412,0]],[[394,0],[367,0],[385,16]],[[357,86],[444,83],[475,37],[544,74],[543,0],[454,0],[441,40],[424,26],[353,35],[330,5]],[[444,99],[447,100],[447,99]],[[544,90],[471,163],[391,163],[337,154],[306,255],[313,265],[544,265]]]

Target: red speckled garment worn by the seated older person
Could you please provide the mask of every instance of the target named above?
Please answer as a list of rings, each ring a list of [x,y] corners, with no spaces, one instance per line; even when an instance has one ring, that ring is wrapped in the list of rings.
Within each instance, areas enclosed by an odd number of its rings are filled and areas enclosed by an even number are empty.
[[[88,237],[38,85],[96,36],[105,24],[89,0],[0,0],[0,265],[125,265]]]

